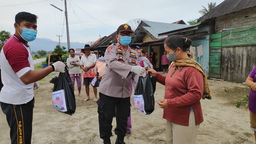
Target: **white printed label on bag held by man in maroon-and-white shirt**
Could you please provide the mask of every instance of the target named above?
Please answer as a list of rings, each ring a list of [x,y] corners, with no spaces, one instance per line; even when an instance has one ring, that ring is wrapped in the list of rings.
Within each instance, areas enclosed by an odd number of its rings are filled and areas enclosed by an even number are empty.
[[[67,111],[64,90],[58,90],[56,92],[52,92],[52,104],[56,110],[59,110],[62,112]]]

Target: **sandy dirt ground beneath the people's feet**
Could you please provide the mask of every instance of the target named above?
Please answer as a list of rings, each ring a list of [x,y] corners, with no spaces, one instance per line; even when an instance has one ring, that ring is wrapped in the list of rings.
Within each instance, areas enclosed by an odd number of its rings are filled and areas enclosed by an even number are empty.
[[[93,92],[90,87],[91,100],[84,102],[76,94],[76,112],[70,116],[55,110],[52,106],[53,84],[49,80],[58,76],[52,73],[40,81],[40,88],[34,90],[35,107],[33,116],[32,144],[102,144],[99,136],[97,104],[92,102]],[[204,122],[200,124],[197,144],[253,144],[254,135],[250,130],[248,108],[236,103],[249,92],[244,84],[209,80],[212,100],[201,100]],[[164,86],[157,83],[155,102],[164,97]],[[125,137],[126,144],[165,144],[166,120],[162,118],[163,110],[155,105],[150,115],[144,115],[132,107],[132,133]],[[112,122],[116,126],[115,118]],[[6,117],[0,110],[0,144],[10,144],[10,128]],[[114,134],[114,131],[113,131]],[[116,135],[111,137],[115,142]]]

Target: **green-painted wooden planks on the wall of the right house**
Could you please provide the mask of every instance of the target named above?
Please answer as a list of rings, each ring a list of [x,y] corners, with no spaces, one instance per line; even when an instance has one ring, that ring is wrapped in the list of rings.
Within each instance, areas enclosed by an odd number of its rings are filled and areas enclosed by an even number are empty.
[[[221,63],[222,57],[226,58],[226,53],[222,54],[222,48],[237,46],[256,45],[256,26],[247,26],[226,30],[210,36],[210,60],[209,60],[209,77],[225,78],[227,71],[223,71]],[[241,47],[242,48],[242,47]],[[227,49],[229,50],[229,49]]]

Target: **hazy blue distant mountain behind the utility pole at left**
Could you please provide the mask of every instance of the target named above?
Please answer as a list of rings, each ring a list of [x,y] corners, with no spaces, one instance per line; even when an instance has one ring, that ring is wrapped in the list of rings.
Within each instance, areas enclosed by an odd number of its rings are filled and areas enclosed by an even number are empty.
[[[92,42],[93,43],[93,42]],[[28,42],[31,51],[37,52],[38,50],[45,50],[45,51],[53,51],[59,42],[52,41],[48,38],[36,38],[36,40],[32,42]],[[80,42],[70,42],[70,48],[84,48],[85,44],[91,44],[91,42],[80,43]],[[60,42],[61,46],[65,46],[68,50],[68,43],[67,42]]]

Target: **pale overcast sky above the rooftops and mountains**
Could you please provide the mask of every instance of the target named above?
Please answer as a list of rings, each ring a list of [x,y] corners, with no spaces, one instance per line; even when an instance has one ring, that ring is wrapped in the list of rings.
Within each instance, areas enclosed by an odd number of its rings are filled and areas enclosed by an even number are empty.
[[[153,22],[172,23],[178,20],[196,19],[202,6],[210,2],[220,4],[224,0],[67,0],[70,42],[91,42],[108,36],[118,26],[130,20],[145,19]],[[31,4],[27,4],[31,3]],[[64,0],[1,0],[0,31],[14,34],[14,17],[18,12],[30,12],[38,16],[37,38],[49,38],[66,42]],[[11,6],[15,5],[15,6]],[[63,25],[64,22],[64,25]],[[129,23],[128,23],[129,24]]]

